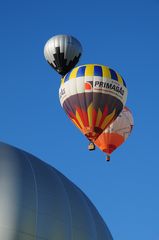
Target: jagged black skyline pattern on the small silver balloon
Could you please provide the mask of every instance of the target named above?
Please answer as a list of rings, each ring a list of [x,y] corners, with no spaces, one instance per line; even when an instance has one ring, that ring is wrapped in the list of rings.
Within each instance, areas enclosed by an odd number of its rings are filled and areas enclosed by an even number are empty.
[[[74,66],[78,63],[79,61],[79,58],[81,56],[81,54],[79,54],[78,57],[74,57],[73,60],[70,60],[69,61],[69,64],[66,65],[67,63],[67,59],[64,58],[64,53],[60,52],[60,48],[59,47],[56,47],[56,53],[53,54],[54,56],[54,64],[55,66],[52,64],[52,63],[49,63],[59,74],[61,75],[65,75],[66,73],[68,73],[72,68],[74,68]]]

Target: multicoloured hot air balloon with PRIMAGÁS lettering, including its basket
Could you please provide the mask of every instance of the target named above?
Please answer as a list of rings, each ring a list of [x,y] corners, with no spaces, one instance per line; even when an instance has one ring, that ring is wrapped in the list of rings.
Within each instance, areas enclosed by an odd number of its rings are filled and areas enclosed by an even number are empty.
[[[123,78],[111,68],[86,64],[62,78],[59,98],[64,111],[91,141],[93,149],[92,143],[122,111],[127,88]]]

